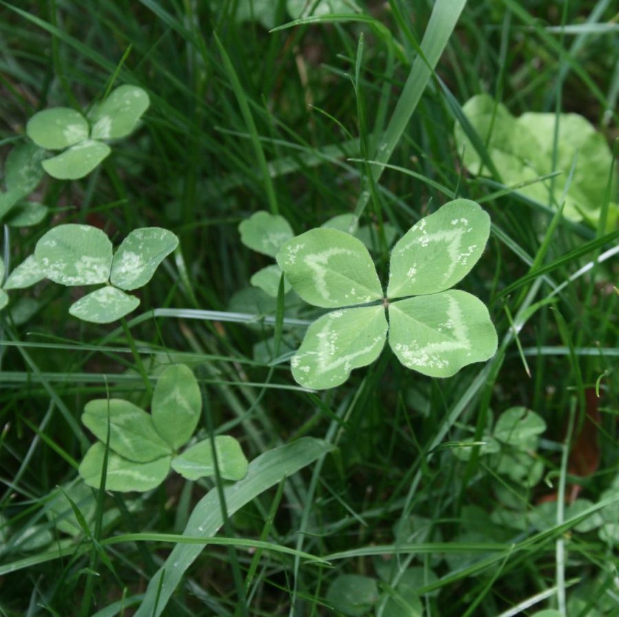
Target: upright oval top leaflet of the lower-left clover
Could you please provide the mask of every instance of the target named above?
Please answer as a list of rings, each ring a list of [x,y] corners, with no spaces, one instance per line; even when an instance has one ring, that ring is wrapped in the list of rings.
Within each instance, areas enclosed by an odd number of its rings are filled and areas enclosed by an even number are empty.
[[[202,394],[193,372],[173,364],[160,375],[153,392],[155,429],[173,449],[186,444],[202,412]]]

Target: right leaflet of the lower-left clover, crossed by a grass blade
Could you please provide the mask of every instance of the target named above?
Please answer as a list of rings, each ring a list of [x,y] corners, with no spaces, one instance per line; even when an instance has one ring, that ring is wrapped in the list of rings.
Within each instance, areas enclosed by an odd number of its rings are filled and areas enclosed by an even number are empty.
[[[224,480],[241,480],[247,473],[247,459],[241,444],[228,435],[215,437],[215,451],[219,473]],[[210,439],[205,439],[186,449],[180,456],[172,459],[172,469],[187,480],[197,480],[207,475],[215,475],[215,461]]]

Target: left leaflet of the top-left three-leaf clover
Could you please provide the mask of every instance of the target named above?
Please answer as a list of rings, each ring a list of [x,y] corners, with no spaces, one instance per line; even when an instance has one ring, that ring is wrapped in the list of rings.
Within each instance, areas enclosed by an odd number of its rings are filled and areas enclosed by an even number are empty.
[[[35,113],[28,124],[26,134],[41,148],[62,150],[88,139],[86,118],[68,107],[44,109]]]

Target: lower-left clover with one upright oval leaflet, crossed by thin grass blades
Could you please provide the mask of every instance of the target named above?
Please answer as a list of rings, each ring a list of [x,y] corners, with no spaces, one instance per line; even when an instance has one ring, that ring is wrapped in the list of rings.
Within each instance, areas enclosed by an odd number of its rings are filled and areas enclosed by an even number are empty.
[[[109,491],[149,491],[159,486],[170,468],[188,480],[215,474],[210,439],[183,453],[202,412],[202,396],[191,369],[174,364],[160,375],[151,414],[122,399],[98,399],[84,407],[82,422],[98,441],[90,447],[79,473],[89,486],[100,486],[105,443],[109,456],[105,488]],[[239,442],[228,435],[215,437],[221,478],[241,480],[248,462]]]

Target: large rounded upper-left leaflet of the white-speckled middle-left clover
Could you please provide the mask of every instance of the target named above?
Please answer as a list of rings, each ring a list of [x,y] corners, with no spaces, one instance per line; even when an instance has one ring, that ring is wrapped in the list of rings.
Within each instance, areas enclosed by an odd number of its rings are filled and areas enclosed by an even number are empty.
[[[93,285],[107,282],[112,245],[96,227],[58,225],[36,243],[34,256],[45,276],[55,283]]]

